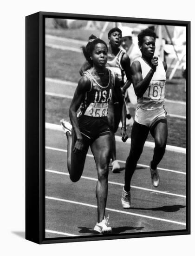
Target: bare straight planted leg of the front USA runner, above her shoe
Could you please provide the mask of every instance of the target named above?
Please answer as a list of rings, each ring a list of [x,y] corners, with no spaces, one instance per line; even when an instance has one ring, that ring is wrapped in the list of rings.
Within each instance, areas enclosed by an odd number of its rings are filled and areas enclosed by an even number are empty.
[[[91,151],[97,167],[97,222],[104,219],[108,194],[108,166],[110,162],[110,135],[97,138],[91,145]]]

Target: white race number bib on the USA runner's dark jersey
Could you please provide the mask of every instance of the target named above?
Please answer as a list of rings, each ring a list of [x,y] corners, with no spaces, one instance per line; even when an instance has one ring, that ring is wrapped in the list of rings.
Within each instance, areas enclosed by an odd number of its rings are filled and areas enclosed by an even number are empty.
[[[93,117],[107,116],[108,102],[105,103],[91,103],[84,112],[84,115]]]

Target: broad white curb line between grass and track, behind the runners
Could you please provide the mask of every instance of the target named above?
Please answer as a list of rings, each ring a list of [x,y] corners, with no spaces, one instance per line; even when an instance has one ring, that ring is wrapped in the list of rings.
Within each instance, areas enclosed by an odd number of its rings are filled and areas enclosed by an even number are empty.
[[[45,123],[45,128],[62,132],[62,128],[58,124]],[[117,136],[117,135],[115,135],[115,140],[118,141],[118,142],[122,142],[121,137]],[[129,139],[127,139],[127,141],[125,143],[130,144],[130,141],[131,140],[129,138]],[[154,148],[155,144],[154,144],[154,142],[146,141],[145,144],[144,144],[144,147]],[[180,147],[176,147],[176,146],[167,145],[166,150],[186,154],[186,148],[180,148]]]

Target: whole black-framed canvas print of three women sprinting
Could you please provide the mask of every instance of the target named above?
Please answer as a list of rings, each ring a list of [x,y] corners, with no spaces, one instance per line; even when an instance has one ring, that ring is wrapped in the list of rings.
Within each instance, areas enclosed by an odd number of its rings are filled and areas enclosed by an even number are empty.
[[[190,22],[26,17],[26,239],[190,234]]]

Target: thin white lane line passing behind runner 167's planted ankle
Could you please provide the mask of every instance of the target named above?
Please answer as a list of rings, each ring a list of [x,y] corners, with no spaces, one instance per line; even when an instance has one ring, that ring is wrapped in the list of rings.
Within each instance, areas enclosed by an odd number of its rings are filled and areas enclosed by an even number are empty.
[[[67,176],[69,176],[69,173],[64,173],[64,172],[59,172],[59,171],[54,171],[54,170],[48,170],[48,169],[45,169],[45,171],[46,171],[46,172],[49,172],[49,173],[55,173],[55,174],[60,174],[60,175],[67,175]],[[97,179],[96,179],[96,178],[91,178],[91,177],[86,177],[86,176],[81,176],[81,178],[83,178],[83,179],[85,179],[85,180],[90,180],[90,181],[95,181],[95,182],[97,182]],[[112,184],[112,185],[124,186],[123,183],[118,183],[118,182],[108,182],[108,183],[109,183],[109,184]],[[137,187],[137,186],[131,186],[131,188],[133,188],[133,189],[145,190],[145,191],[150,191],[150,192],[155,192],[155,193],[158,193],[158,194],[173,195],[173,196],[177,196],[177,197],[186,198],[185,195],[177,195],[177,194],[173,194],[173,193],[169,193],[169,192],[163,192],[163,191],[160,191],[160,190],[146,189],[146,188]]]

